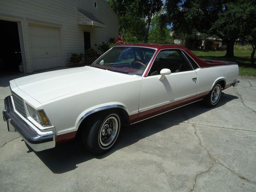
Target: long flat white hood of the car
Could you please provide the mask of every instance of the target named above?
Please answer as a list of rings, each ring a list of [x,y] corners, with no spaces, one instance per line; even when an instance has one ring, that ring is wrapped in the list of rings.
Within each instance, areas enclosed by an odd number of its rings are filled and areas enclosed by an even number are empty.
[[[86,66],[29,75],[14,79],[14,82],[18,89],[43,103],[64,95],[113,86],[138,77]]]

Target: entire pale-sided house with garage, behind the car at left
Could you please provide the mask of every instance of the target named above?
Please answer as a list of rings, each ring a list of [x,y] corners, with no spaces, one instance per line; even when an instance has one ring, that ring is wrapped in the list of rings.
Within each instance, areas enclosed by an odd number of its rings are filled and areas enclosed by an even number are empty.
[[[64,67],[118,35],[118,18],[105,0],[1,0],[0,69],[24,72]]]

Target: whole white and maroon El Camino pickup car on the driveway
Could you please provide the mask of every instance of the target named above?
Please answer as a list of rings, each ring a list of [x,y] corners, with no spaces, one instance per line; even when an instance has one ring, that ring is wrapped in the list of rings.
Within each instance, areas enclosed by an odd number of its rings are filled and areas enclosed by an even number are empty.
[[[113,147],[121,125],[202,99],[215,106],[237,79],[237,63],[201,60],[185,47],[121,45],[91,66],[11,80],[3,115],[9,132],[34,151],[79,136],[101,154]]]

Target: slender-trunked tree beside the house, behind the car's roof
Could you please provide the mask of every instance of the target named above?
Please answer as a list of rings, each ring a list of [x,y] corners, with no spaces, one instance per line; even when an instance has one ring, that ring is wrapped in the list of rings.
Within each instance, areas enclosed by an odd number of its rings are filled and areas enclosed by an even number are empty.
[[[124,41],[147,42],[152,16],[161,9],[162,0],[109,0],[119,18]]]

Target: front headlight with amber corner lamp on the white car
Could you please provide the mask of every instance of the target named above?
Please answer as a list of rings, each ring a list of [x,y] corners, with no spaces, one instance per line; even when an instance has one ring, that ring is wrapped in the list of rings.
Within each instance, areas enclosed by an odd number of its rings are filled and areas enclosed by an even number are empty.
[[[32,119],[34,119],[36,122],[40,123],[42,126],[50,125],[50,122],[49,122],[48,118],[46,117],[44,110],[35,110],[28,103],[27,103],[27,107],[29,110],[29,115]]]

